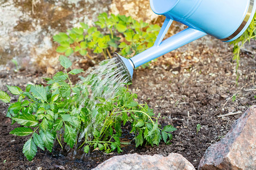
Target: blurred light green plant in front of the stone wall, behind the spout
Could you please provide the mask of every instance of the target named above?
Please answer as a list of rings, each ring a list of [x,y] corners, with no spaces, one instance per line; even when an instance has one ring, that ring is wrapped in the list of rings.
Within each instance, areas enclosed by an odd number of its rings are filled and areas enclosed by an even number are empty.
[[[90,59],[93,59],[92,54],[102,54],[107,59],[108,56],[112,58],[110,52],[118,51],[121,56],[130,58],[154,45],[160,30],[156,24],[138,22],[125,15],[108,16],[105,12],[98,15],[95,24],[98,27],[80,23],[79,28],[53,36],[53,40],[60,44],[57,52],[65,56],[75,52]],[[103,34],[98,29],[104,29],[106,33]]]

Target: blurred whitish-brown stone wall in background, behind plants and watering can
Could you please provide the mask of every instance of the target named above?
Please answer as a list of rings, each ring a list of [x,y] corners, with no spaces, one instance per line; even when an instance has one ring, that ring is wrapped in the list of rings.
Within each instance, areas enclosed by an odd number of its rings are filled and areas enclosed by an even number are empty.
[[[102,12],[160,26],[165,18],[152,12],[149,0],[0,0],[0,71],[14,69],[14,59],[19,69],[54,73],[59,54],[55,52],[53,35],[80,22],[93,25]],[[172,24],[166,38],[184,28],[182,24]],[[177,50],[184,52],[188,46],[212,42],[212,37],[206,36]],[[214,40],[213,44],[222,43]]]

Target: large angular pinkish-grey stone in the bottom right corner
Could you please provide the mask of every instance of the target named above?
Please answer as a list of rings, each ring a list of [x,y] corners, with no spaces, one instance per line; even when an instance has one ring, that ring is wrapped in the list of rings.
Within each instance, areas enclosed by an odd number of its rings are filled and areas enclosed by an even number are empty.
[[[220,142],[210,146],[198,169],[255,169],[256,105],[251,106],[232,125]]]

